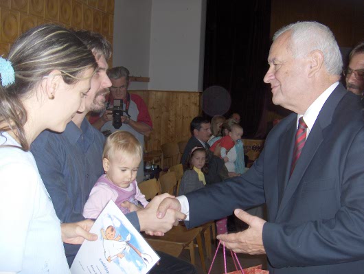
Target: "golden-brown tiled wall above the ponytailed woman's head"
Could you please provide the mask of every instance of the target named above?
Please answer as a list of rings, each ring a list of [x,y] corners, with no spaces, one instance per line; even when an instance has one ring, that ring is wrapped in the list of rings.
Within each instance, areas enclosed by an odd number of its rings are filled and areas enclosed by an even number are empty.
[[[0,0],[0,56],[36,25],[57,23],[100,32],[113,43],[113,0]]]

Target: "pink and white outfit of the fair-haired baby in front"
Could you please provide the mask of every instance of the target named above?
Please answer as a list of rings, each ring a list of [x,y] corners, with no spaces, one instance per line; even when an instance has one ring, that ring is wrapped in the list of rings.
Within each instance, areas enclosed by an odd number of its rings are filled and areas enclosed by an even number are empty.
[[[144,207],[148,205],[148,201],[146,201],[146,197],[141,194],[136,180],[131,182],[129,187],[122,188],[114,185],[106,177],[106,174],[103,174],[95,183],[89,199],[84,205],[84,218],[98,218],[102,209],[104,209],[110,200],[113,200],[124,214],[129,212],[126,207],[120,205],[124,201],[129,201],[135,205],[137,205],[137,201],[139,201]]]

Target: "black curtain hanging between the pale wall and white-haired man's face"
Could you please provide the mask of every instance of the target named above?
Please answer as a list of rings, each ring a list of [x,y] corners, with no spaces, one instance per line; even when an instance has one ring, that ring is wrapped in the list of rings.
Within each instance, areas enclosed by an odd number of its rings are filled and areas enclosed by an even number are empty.
[[[240,113],[244,137],[265,134],[259,125],[271,92],[263,82],[270,20],[270,0],[207,0],[203,88],[218,85],[229,91],[231,107],[225,116]]]

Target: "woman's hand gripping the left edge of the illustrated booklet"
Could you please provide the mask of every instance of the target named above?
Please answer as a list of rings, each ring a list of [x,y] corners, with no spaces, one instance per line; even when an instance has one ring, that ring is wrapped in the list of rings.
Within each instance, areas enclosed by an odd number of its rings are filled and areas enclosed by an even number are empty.
[[[84,239],[89,241],[98,240],[98,236],[89,233],[93,225],[93,220],[82,220],[80,222],[62,223],[62,241],[66,244],[82,244]]]

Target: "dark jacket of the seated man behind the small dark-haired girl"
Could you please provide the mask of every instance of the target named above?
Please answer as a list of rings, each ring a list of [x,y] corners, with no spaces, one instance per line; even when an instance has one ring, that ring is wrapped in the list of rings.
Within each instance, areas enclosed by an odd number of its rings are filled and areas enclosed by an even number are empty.
[[[191,137],[186,146],[185,151],[183,152],[181,163],[183,164],[183,168],[185,169],[185,165],[187,163],[188,155],[190,155],[190,152],[192,148],[196,146],[202,146],[201,142],[198,141],[196,137]],[[205,174],[205,180],[207,185],[211,185],[213,183],[218,183],[220,181],[223,181],[227,179],[227,169],[225,167],[225,163],[223,159],[220,159],[219,157],[215,156],[208,148],[209,144],[206,143],[206,155],[207,159],[209,160],[209,173]]]

